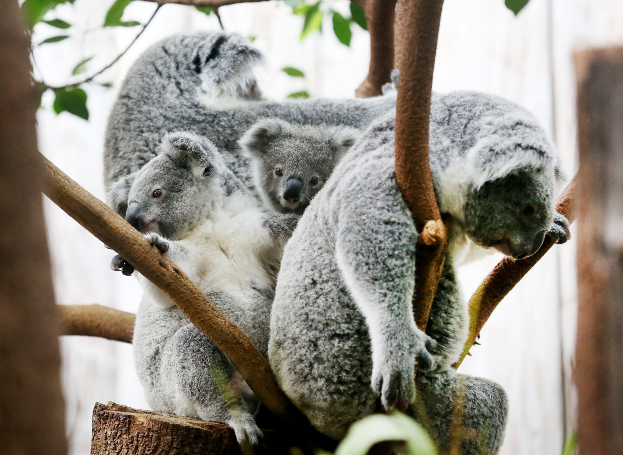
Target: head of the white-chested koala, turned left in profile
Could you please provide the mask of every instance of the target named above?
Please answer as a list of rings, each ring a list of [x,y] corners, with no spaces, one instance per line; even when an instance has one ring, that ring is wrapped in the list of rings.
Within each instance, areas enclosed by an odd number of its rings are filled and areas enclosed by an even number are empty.
[[[216,148],[204,137],[168,133],[159,155],[141,168],[128,193],[125,219],[138,231],[174,239],[231,193],[233,182]]]

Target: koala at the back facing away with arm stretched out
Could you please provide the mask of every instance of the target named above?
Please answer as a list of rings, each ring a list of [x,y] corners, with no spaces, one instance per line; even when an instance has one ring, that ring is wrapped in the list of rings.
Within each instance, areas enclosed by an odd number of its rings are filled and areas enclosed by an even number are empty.
[[[396,105],[395,90],[373,98],[262,101],[252,73],[260,62],[249,41],[224,32],[171,36],[136,60],[108,118],[104,147],[107,201],[121,216],[131,182],[155,156],[163,132],[207,137],[257,197],[250,158],[238,140],[260,118],[365,128]]]

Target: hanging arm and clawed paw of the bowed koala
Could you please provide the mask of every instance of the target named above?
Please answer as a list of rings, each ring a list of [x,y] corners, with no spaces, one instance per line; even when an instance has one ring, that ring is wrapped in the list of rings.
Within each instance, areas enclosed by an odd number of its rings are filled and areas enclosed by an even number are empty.
[[[374,163],[358,170],[360,188],[344,191],[333,209],[336,261],[369,328],[372,386],[391,409],[398,398],[406,403],[414,398],[416,360],[421,368],[431,368],[427,347],[435,342],[414,322],[417,231],[391,178],[393,163],[387,167],[379,170]]]

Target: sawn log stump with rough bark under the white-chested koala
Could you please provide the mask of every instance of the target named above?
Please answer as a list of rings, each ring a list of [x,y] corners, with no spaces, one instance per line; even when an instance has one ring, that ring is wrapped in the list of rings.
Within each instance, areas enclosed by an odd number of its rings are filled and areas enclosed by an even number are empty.
[[[240,448],[224,424],[95,403],[91,455],[255,455],[288,454],[288,444],[271,430],[254,448]],[[249,450],[247,450],[249,449]]]

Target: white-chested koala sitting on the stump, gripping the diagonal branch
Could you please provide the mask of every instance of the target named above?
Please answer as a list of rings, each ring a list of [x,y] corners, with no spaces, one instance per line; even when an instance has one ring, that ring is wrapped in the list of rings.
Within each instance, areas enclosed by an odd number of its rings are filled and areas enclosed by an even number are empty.
[[[123,189],[121,189],[123,191]],[[126,220],[145,234],[267,355],[270,307],[282,249],[297,216],[268,213],[206,138],[166,134],[131,182]],[[111,267],[131,274],[120,256]],[[262,436],[227,357],[154,284],[136,315],[136,371],[154,410],[231,426],[238,441]],[[239,387],[240,388],[240,387]],[[244,383],[240,389],[249,391]]]

